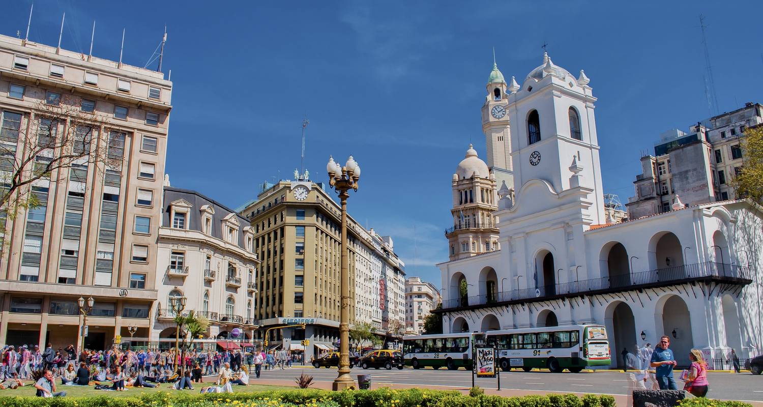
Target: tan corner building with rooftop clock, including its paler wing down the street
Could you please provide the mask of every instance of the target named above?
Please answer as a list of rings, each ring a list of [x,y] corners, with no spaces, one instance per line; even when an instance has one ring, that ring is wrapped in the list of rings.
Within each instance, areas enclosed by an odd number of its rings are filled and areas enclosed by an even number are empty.
[[[303,350],[300,341],[307,339],[309,358],[339,340],[341,212],[324,184],[298,178],[266,184],[256,201],[238,211],[251,221],[254,251],[262,260],[255,318],[263,328],[307,325],[271,331],[269,347]],[[348,218],[349,322],[369,322],[384,335],[391,320],[404,326],[404,264],[390,238]],[[264,339],[263,332],[256,339]]]

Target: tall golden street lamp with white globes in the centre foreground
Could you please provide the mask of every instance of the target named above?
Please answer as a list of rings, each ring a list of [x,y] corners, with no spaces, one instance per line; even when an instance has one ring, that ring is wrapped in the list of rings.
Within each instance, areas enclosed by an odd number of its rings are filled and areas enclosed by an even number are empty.
[[[326,172],[329,175],[329,184],[333,187],[342,204],[342,268],[340,273],[340,292],[341,305],[340,312],[340,360],[339,374],[333,381],[331,388],[333,390],[354,389],[355,383],[349,376],[349,257],[347,254],[347,199],[349,190],[358,190],[358,181],[360,179],[360,166],[353,160],[353,156],[344,164],[335,163],[333,157],[329,157],[329,163],[326,165]]]

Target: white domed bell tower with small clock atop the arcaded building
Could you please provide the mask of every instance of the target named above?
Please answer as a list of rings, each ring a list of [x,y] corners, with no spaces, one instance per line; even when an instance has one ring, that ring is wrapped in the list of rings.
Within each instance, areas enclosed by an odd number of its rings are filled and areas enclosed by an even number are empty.
[[[587,218],[605,224],[594,98],[583,71],[575,79],[554,65],[547,53],[522,86],[512,79],[507,111],[512,126],[511,159],[517,191],[531,179],[549,183],[556,193],[591,189]],[[519,197],[517,199],[520,199]]]

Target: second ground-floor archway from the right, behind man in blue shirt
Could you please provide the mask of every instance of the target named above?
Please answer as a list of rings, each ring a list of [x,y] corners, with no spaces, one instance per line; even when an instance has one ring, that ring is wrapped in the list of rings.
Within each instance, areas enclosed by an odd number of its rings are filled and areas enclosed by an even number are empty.
[[[689,351],[694,346],[689,308],[686,302],[676,295],[663,297],[660,302],[662,302],[662,308],[658,309],[662,312],[662,321],[660,321],[662,322],[662,334],[670,338],[670,348],[673,350],[673,355],[678,364],[689,366]]]

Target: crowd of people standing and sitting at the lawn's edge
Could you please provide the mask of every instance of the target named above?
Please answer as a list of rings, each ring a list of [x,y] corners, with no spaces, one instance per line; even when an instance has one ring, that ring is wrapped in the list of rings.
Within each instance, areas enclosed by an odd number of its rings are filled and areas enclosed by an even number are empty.
[[[301,354],[288,350],[192,350],[183,354],[172,349],[82,350],[74,345],[54,350],[51,344],[40,351],[37,345],[5,346],[0,353],[0,389],[15,389],[33,380],[37,396],[66,396],[63,386],[95,386],[96,389],[124,391],[127,387],[194,389],[203,376],[217,376],[217,386],[201,392],[232,392],[232,386],[249,384],[249,372],[259,378],[262,370],[291,367],[301,362]],[[210,380],[207,380],[210,381]],[[31,383],[28,383],[31,384]]]

